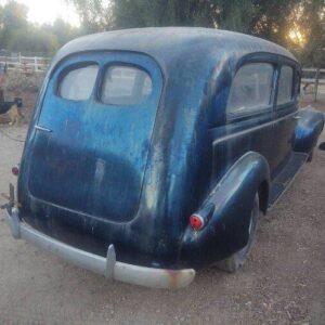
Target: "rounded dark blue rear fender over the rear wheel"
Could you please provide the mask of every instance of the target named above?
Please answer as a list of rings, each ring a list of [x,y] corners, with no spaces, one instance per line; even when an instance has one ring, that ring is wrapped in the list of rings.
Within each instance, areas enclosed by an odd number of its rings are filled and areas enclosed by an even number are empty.
[[[253,199],[263,182],[270,183],[266,159],[253,152],[240,157],[196,211],[205,227],[195,232],[187,226],[181,258],[194,268],[203,268],[245,247]]]

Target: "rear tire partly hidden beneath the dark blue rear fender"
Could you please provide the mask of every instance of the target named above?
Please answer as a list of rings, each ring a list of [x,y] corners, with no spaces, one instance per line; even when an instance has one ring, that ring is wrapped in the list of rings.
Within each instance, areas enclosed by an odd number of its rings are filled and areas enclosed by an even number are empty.
[[[240,266],[243,266],[243,264],[246,262],[247,257],[249,256],[249,252],[250,252],[251,247],[255,242],[259,212],[260,212],[259,196],[258,196],[258,194],[256,194],[255,199],[253,199],[251,214],[250,214],[249,237],[248,237],[247,245],[239,251],[232,255],[231,257],[229,257],[220,262],[217,262],[216,266],[218,269],[230,272],[230,273],[234,273]]]

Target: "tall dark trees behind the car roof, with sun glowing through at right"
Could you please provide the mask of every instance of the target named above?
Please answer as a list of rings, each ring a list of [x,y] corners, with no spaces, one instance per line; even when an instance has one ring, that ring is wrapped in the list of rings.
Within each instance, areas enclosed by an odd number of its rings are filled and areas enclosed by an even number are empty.
[[[251,34],[324,66],[324,0],[68,0],[86,31],[147,26],[203,26]],[[109,3],[109,4],[107,4]],[[292,41],[292,28],[306,41]]]

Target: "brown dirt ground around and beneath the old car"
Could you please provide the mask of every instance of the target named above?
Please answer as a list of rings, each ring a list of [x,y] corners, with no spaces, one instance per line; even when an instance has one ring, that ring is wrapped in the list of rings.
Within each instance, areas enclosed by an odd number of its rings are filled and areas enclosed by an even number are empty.
[[[325,112],[325,102],[318,108]],[[27,127],[0,130],[23,140]],[[0,132],[0,193],[15,182],[10,170],[22,150],[23,143]],[[261,218],[243,270],[204,270],[181,290],[109,282],[75,268],[13,239],[0,211],[0,324],[323,325],[324,204],[325,152],[316,151],[275,209]]]

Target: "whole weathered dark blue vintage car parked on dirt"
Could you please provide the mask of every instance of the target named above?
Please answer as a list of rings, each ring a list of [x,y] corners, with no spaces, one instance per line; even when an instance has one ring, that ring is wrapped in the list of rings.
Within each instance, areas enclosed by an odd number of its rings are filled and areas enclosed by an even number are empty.
[[[311,159],[323,114],[298,110],[300,67],[269,41],[205,28],[79,38],[54,57],[8,221],[108,278],[170,288],[237,270]]]

